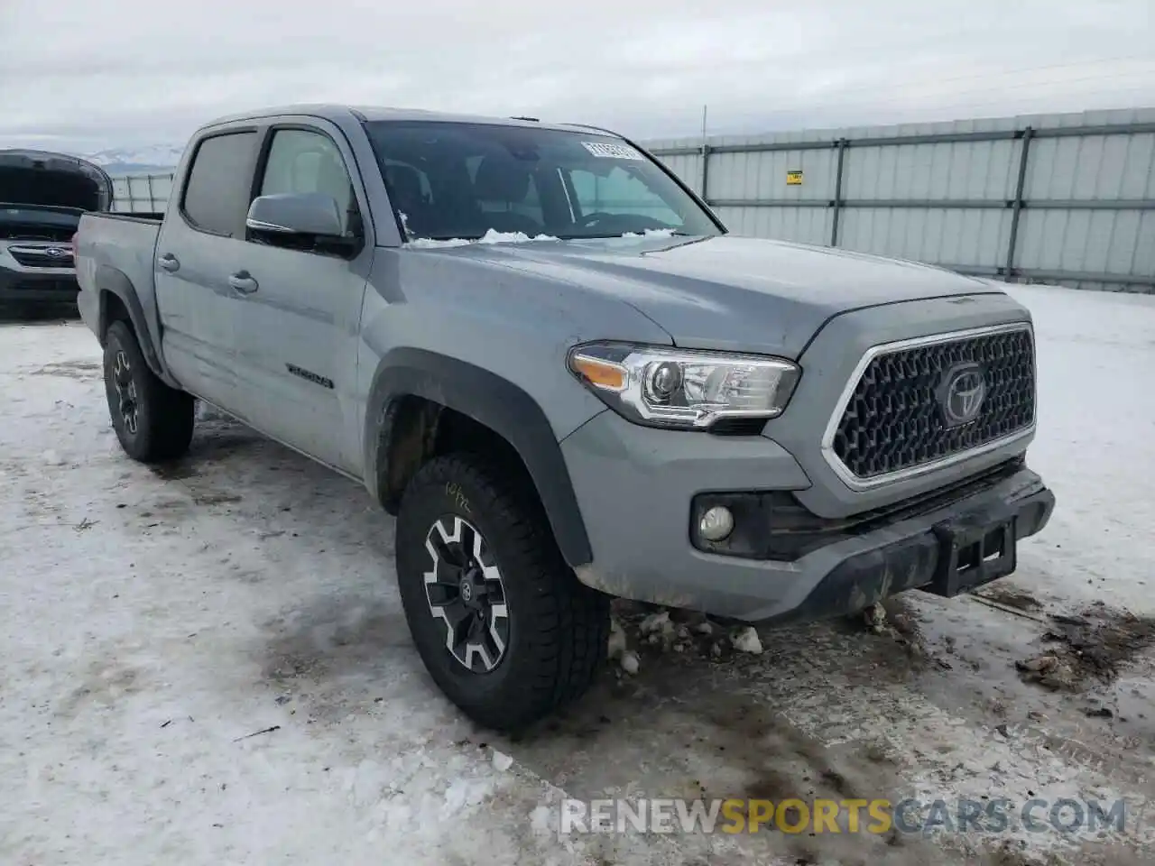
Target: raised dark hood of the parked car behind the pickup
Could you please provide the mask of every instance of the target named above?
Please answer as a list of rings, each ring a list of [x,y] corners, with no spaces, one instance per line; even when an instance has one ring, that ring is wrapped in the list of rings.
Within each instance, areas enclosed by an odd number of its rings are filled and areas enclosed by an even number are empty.
[[[44,150],[0,150],[0,202],[109,210],[112,179],[94,163]]]

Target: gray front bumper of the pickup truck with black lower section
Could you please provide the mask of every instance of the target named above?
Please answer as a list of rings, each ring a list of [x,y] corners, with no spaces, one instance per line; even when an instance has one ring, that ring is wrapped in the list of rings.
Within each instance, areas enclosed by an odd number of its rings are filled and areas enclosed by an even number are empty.
[[[772,440],[640,433],[609,412],[561,448],[594,552],[594,561],[576,569],[583,583],[623,598],[752,622],[850,613],[927,587],[940,573],[936,527],[1014,517],[1021,539],[1043,529],[1055,507],[1042,479],[1023,468],[917,515],[825,539],[792,561],[747,559],[693,546],[691,501],[708,491],[807,487],[793,457]]]

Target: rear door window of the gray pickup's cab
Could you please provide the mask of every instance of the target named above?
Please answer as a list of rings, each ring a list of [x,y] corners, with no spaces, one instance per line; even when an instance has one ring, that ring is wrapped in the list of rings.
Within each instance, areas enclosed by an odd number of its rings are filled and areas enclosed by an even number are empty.
[[[255,132],[201,141],[181,200],[181,211],[194,229],[230,238],[237,234],[248,207],[255,147]]]

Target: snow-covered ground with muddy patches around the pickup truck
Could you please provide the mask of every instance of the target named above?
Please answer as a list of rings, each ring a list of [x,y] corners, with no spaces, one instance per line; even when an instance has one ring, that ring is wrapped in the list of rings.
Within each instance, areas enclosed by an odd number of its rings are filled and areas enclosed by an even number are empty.
[[[179,465],[134,464],[95,338],[0,326],[0,863],[1147,861],[1155,633],[1124,611],[1155,615],[1155,298],[1014,293],[1040,343],[1030,462],[1059,507],[1012,578],[903,597],[894,629],[762,632],[760,655],[627,627],[639,672],[608,666],[516,741],[430,682],[363,490],[211,417]],[[1048,671],[1059,690],[1024,681]],[[907,794],[1130,812],[1078,839],[556,833],[566,796]]]

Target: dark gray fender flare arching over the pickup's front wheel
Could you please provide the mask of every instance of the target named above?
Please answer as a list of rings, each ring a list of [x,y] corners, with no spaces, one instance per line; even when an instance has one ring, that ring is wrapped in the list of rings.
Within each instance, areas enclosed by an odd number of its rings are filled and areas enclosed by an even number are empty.
[[[400,348],[378,364],[365,411],[365,483],[378,501],[394,411],[407,396],[424,397],[472,418],[505,439],[521,457],[571,567],[594,559],[561,447],[545,412],[513,382],[474,364],[422,349]],[[383,435],[382,435],[383,433]],[[382,442],[386,448],[382,448]]]

